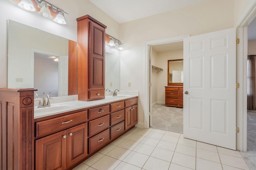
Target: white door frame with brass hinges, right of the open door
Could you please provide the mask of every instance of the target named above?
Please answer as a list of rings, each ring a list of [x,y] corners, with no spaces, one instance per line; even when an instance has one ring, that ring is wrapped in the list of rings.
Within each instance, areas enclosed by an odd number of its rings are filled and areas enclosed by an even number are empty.
[[[236,149],[244,152],[247,151],[247,26],[255,17],[256,2],[236,25],[236,37],[240,39],[240,43],[236,46],[236,82],[240,83],[240,88],[236,90],[236,125],[240,129],[236,135]]]

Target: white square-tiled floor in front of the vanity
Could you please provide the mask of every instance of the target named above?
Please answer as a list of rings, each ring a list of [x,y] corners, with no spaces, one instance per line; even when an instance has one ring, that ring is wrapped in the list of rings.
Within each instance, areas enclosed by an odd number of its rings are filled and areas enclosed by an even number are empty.
[[[240,152],[134,127],[74,170],[249,170]]]

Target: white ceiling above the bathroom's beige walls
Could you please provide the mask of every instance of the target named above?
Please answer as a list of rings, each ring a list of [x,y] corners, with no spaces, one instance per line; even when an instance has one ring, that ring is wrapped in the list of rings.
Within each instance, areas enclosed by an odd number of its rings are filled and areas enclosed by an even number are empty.
[[[119,23],[137,20],[209,0],[90,0]]]

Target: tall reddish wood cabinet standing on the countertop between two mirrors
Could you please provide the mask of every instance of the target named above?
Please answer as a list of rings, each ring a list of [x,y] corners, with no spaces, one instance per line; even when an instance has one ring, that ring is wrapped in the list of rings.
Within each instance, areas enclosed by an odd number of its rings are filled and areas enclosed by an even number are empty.
[[[106,25],[91,16],[77,21],[78,100],[105,98],[105,29]]]

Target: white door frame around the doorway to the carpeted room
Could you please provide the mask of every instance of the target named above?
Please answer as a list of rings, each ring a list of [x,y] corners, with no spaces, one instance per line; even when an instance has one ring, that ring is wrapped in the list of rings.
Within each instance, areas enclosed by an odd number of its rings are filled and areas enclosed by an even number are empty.
[[[175,37],[168,37],[168,38],[162,38],[162,39],[155,39],[145,42],[145,64],[146,64],[146,71],[145,71],[145,111],[144,111],[144,128],[149,128],[149,111],[152,109],[152,105],[150,104],[150,97],[152,94],[150,94],[150,56],[148,48],[151,45],[158,45],[158,44],[165,44],[165,43],[175,43],[178,41],[183,41],[183,38],[189,37],[190,35],[180,35]]]

